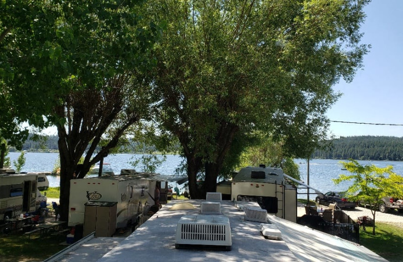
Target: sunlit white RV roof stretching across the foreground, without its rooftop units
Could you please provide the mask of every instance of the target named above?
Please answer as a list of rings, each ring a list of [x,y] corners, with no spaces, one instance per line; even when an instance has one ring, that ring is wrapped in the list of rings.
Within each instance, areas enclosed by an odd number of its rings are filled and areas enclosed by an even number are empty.
[[[185,203],[195,209],[170,209],[180,202],[168,203],[98,261],[387,261],[363,246],[274,216],[269,219],[281,231],[282,240],[265,239],[260,223],[244,220],[245,213],[230,201],[221,202],[222,215],[231,225],[230,251],[175,249],[179,219],[199,214],[201,205],[193,200]],[[242,204],[258,207],[256,203]]]

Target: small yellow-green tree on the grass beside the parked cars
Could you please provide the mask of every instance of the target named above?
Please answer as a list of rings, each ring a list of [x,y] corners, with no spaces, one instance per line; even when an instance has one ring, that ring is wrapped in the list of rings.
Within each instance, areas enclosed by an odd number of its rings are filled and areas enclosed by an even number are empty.
[[[373,207],[372,234],[375,235],[375,214],[382,198],[386,196],[403,197],[403,177],[393,173],[393,167],[377,167],[375,165],[360,165],[356,160],[340,162],[352,175],[342,174],[333,179],[335,184],[343,181],[353,181],[346,191],[347,197],[364,205]],[[387,176],[386,176],[387,175]]]

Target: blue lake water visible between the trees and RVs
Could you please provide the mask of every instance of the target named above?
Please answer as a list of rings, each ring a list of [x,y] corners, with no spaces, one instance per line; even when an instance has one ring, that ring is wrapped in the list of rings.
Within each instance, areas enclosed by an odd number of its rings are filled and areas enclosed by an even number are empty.
[[[11,163],[20,156],[20,153],[11,152],[9,157]],[[104,163],[109,163],[113,171],[118,174],[120,169],[133,168],[130,162],[133,161],[133,157],[140,157],[136,154],[116,154],[108,155],[104,159]],[[25,153],[25,165],[22,171],[26,172],[50,172],[58,159],[58,153]],[[163,175],[175,174],[175,169],[180,165],[182,159],[176,155],[167,155],[166,161],[157,168],[156,172]],[[307,182],[307,163],[305,160],[296,159],[295,162],[299,165],[299,170],[302,180]],[[338,178],[340,174],[348,174],[347,171],[341,170],[340,160],[331,159],[313,159],[309,162],[309,184],[310,186],[318,189],[321,192],[327,191],[343,191],[348,188],[350,182],[344,182],[339,185],[334,185],[331,181],[333,178]],[[397,174],[403,175],[403,162],[401,161],[358,161],[361,165],[374,164],[378,167],[386,167],[388,165],[393,166],[393,171]],[[141,171],[136,168],[136,170]],[[49,185],[59,186],[60,179],[58,176],[48,176]],[[175,187],[175,183],[171,183],[171,186]],[[183,191],[182,186],[178,186]],[[299,189],[300,193],[306,192],[306,190]],[[310,199],[314,199],[315,194],[310,195]],[[299,195],[298,198],[306,198],[306,195]]]

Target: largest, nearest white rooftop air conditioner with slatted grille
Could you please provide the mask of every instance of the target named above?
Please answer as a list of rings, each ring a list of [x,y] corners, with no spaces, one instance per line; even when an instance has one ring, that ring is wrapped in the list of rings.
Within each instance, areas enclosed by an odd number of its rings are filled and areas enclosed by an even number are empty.
[[[231,250],[230,221],[224,216],[188,215],[176,227],[175,248]]]

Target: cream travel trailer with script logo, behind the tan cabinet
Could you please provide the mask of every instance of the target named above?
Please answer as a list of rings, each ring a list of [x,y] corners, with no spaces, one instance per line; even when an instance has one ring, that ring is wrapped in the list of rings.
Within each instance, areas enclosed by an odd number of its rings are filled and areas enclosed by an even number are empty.
[[[70,181],[69,226],[89,221],[86,203],[115,203],[112,215],[114,229],[134,225],[147,213],[154,203],[156,181],[150,180],[153,173],[88,177]],[[93,203],[94,204],[94,203]],[[93,206],[93,204],[91,204]],[[106,205],[108,206],[108,205]],[[96,218],[93,218],[96,220]],[[95,223],[95,221],[94,221]],[[113,222],[114,223],[114,222]],[[84,224],[84,227],[86,225]]]

